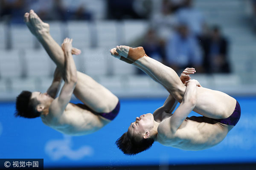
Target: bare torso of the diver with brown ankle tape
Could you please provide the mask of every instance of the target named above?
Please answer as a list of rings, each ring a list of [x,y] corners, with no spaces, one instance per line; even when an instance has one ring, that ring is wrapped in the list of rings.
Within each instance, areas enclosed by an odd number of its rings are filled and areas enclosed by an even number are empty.
[[[182,150],[204,150],[220,143],[234,127],[224,125],[204,116],[187,117],[178,130],[172,134],[164,127],[170,113],[163,114],[164,119],[157,128],[157,142],[165,146]],[[168,119],[167,119],[168,120]],[[157,121],[157,120],[156,120]]]

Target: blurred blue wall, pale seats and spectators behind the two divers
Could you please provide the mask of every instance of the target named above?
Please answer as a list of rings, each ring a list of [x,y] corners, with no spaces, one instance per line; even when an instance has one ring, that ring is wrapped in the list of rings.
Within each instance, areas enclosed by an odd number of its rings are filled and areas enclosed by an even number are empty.
[[[111,124],[65,136],[41,119],[15,118],[23,90],[45,92],[55,65],[23,23],[33,9],[58,44],[73,38],[76,67],[121,101]],[[203,87],[235,97],[239,123],[221,144],[184,151],[158,143],[125,156],[114,142],[130,122],[163,105],[168,92],[133,65],[111,57],[116,45],[143,46],[175,69],[197,71]],[[256,0],[0,0],[0,158],[43,158],[46,169],[256,168]],[[73,97],[72,102],[79,102]],[[196,115],[192,113],[191,115]],[[130,122],[129,122],[130,121]]]

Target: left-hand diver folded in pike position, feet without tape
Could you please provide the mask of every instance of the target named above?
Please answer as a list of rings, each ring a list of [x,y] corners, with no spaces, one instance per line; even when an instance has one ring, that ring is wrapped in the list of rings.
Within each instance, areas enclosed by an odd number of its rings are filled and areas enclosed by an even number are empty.
[[[49,24],[33,10],[24,15],[24,20],[57,67],[46,93],[22,91],[17,96],[16,116],[41,117],[45,125],[69,135],[93,133],[111,122],[119,113],[119,99],[91,77],[76,71],[72,54],[81,51],[72,47],[72,40],[66,38],[59,46],[49,34]],[[72,94],[82,103],[70,103]]]

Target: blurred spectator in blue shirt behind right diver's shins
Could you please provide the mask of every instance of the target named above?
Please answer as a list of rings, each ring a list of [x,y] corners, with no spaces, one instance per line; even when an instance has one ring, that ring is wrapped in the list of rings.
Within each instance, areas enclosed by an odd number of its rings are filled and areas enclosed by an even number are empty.
[[[176,33],[166,44],[166,64],[180,73],[186,67],[202,72],[201,49],[198,40],[186,23],[180,23]]]

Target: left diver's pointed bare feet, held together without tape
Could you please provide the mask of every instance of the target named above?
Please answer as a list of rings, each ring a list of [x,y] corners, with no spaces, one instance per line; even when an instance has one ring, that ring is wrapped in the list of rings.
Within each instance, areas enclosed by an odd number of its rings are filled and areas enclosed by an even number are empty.
[[[24,14],[24,21],[31,33],[36,37],[40,37],[43,34],[49,34],[49,24],[44,23],[33,10]]]

